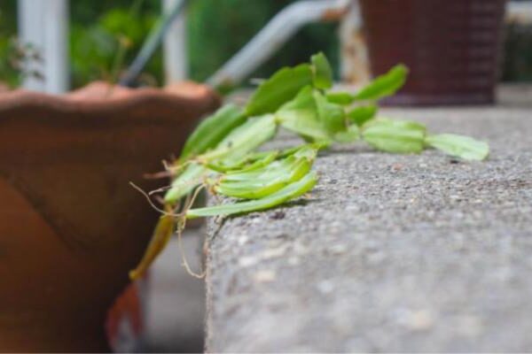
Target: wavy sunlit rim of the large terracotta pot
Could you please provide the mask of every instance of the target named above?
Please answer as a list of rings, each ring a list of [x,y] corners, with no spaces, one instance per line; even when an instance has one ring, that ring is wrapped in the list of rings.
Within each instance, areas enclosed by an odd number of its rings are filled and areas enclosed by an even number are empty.
[[[102,96],[102,92],[106,90],[111,92],[111,96]],[[136,118],[152,119],[146,111],[153,111],[153,119],[175,120],[176,110],[183,110],[187,103],[192,102],[216,106],[220,104],[221,97],[213,89],[192,81],[179,82],[162,89],[128,89],[112,86],[104,81],[94,81],[65,95],[26,89],[1,93],[0,121],[10,119],[12,114],[9,113],[28,109],[50,113],[50,118],[55,121],[72,121],[73,117],[79,116],[81,119],[90,117],[130,123]],[[117,112],[124,114],[116,114]]]

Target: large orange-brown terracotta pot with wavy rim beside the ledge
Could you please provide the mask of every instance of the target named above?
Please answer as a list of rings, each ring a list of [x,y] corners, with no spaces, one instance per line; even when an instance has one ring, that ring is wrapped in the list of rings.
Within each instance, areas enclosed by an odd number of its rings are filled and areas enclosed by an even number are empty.
[[[104,323],[157,212],[129,186],[215,110],[209,89],[0,95],[0,351],[108,350]]]

